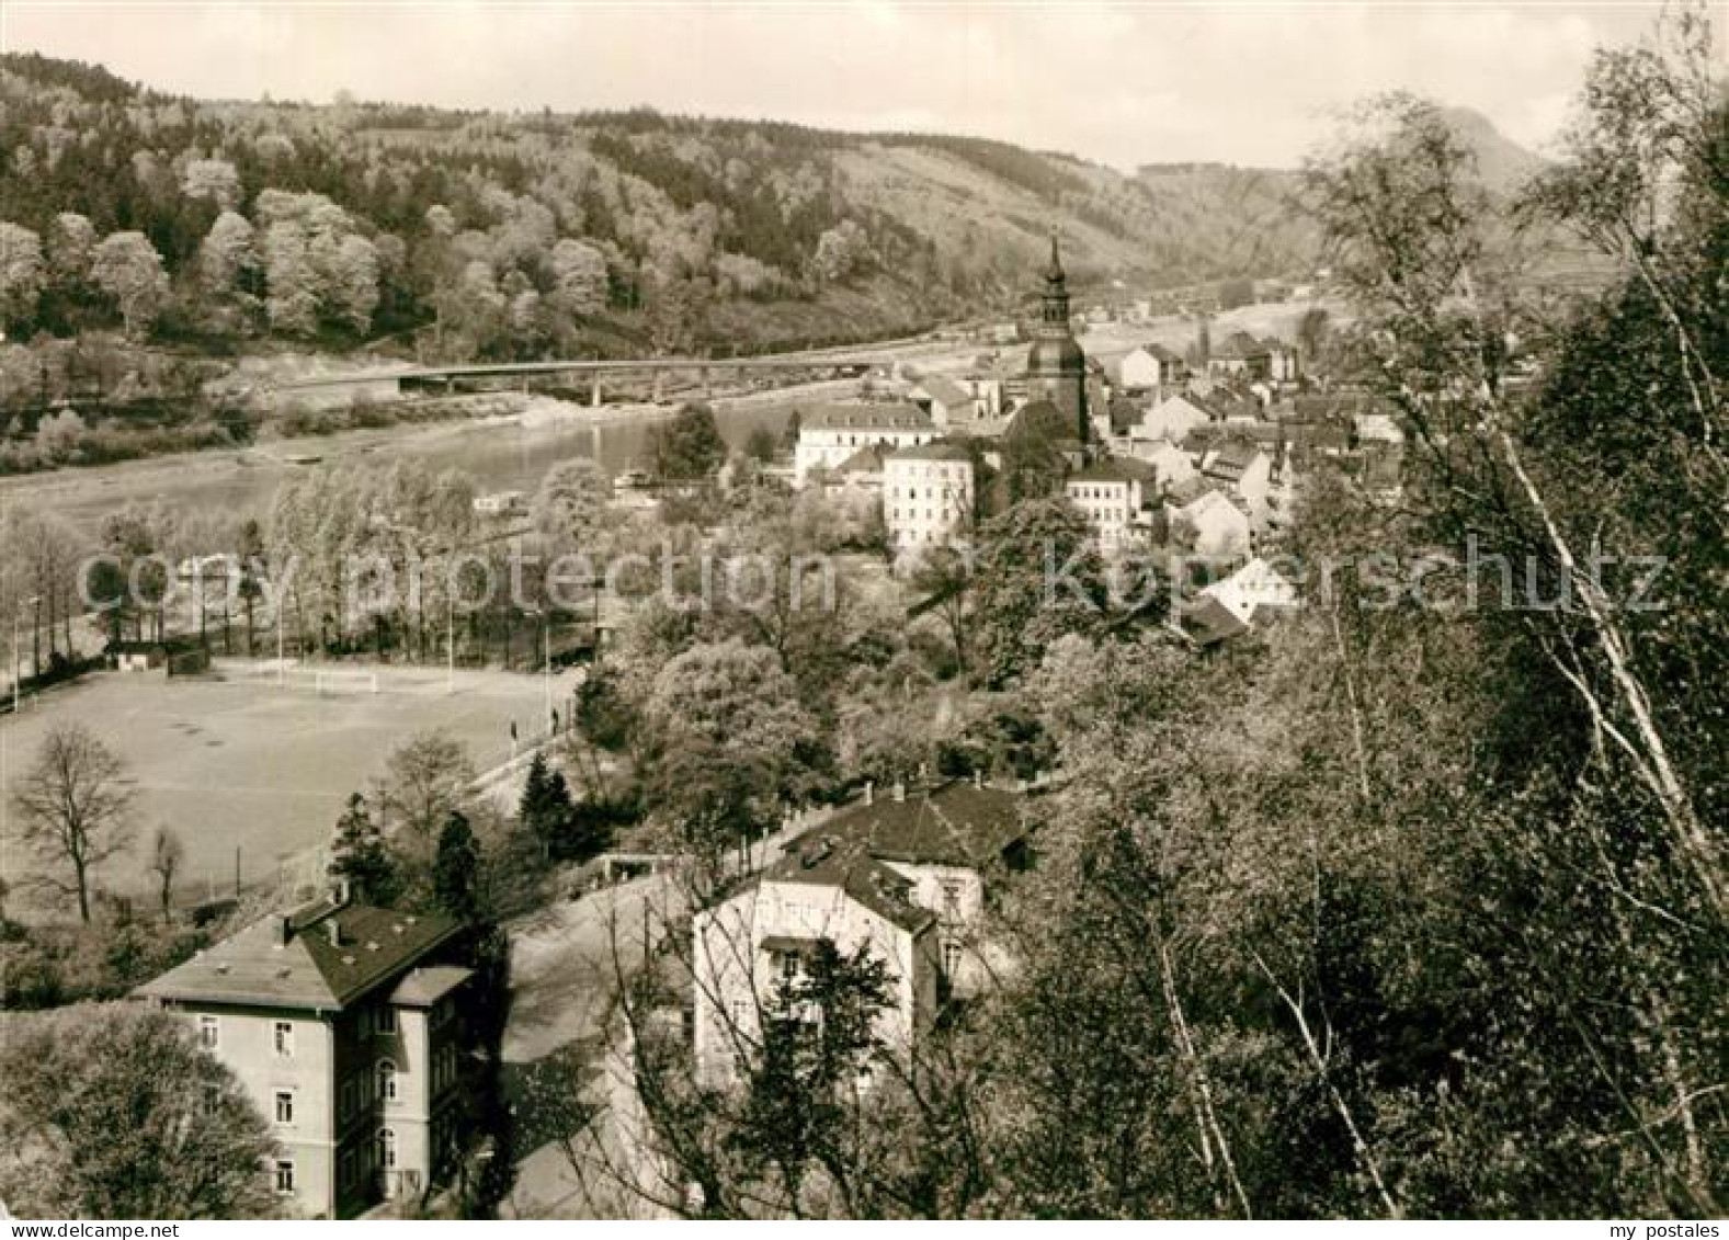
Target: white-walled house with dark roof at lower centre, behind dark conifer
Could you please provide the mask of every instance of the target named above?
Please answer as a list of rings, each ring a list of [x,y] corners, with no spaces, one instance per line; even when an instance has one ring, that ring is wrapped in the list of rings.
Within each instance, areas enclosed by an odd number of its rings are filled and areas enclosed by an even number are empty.
[[[951,780],[864,797],[785,846],[749,885],[692,918],[699,1079],[724,1084],[761,1046],[776,991],[828,941],[889,970],[877,1036],[911,1053],[942,1003],[1003,962],[986,887],[1025,868],[1027,796]]]

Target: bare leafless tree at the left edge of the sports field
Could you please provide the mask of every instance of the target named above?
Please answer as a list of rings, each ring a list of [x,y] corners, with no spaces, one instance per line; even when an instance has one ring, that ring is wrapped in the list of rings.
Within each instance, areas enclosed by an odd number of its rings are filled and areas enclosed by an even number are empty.
[[[12,794],[26,846],[45,863],[71,870],[71,880],[45,873],[40,882],[76,894],[86,924],[97,868],[131,842],[131,789],[124,777],[119,757],[73,723],[43,738]]]

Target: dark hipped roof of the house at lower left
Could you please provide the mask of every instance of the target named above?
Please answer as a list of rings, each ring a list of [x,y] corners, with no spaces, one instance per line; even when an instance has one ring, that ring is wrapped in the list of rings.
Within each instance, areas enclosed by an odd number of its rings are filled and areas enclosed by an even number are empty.
[[[332,943],[330,925],[339,929],[341,943]],[[316,901],[254,922],[135,993],[332,1012],[401,977],[460,929],[441,913]]]

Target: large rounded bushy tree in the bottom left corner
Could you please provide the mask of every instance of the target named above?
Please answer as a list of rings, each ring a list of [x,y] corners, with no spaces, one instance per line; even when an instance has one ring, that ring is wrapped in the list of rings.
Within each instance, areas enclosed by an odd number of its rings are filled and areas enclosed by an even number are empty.
[[[178,1015],[16,1017],[0,1041],[0,1197],[35,1218],[265,1218],[275,1143]]]

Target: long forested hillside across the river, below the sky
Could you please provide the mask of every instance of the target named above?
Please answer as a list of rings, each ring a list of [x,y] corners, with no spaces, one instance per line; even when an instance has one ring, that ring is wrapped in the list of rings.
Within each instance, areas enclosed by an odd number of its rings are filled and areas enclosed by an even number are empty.
[[[1288,185],[652,111],[201,102],[9,55],[0,316],[448,356],[858,339],[1013,310],[1051,227],[1082,289],[1300,272]]]

